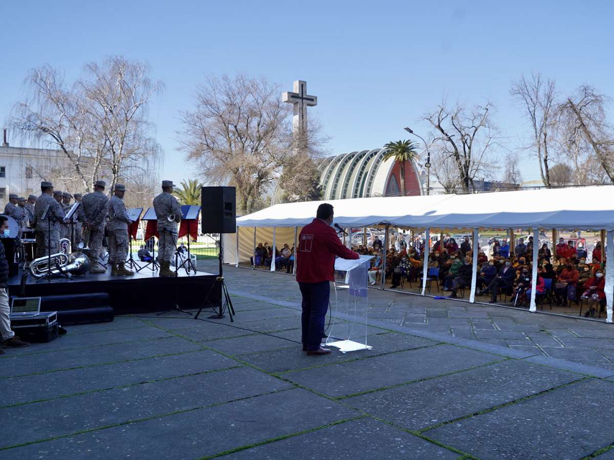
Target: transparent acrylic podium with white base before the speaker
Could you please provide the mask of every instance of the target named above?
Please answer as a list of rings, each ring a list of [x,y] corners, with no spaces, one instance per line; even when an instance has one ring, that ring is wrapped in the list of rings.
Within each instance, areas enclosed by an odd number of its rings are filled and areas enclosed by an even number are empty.
[[[332,324],[325,345],[339,348],[341,353],[371,350],[367,345],[367,267],[373,256],[357,260],[336,259],[335,270],[346,272],[347,285],[335,283],[333,313],[355,316],[351,322]]]

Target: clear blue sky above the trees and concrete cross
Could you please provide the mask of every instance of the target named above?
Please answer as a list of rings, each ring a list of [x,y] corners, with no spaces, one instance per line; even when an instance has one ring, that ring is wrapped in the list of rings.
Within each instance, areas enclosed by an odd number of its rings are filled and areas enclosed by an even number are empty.
[[[2,2],[0,121],[23,96],[28,69],[49,63],[71,79],[117,54],[147,61],[166,84],[151,118],[161,175],[176,182],[197,176],[176,150],[177,114],[205,74],[265,75],[284,90],[306,80],[332,153],[405,138],[403,126],[424,135],[416,120],[443,94],[491,99],[504,144],[518,148],[528,127],[509,89],[521,74],[614,96],[613,18],[610,1]],[[538,178],[526,154],[521,168],[524,180]]]

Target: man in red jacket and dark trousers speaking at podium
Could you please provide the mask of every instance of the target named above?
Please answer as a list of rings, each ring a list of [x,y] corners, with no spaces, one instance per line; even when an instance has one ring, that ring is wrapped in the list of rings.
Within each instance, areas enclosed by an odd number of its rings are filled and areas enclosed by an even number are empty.
[[[331,281],[334,281],[335,257],[358,259],[358,253],[346,248],[335,230],[333,206],[322,203],[316,218],[301,230],[298,237],[297,282],[303,296],[301,328],[303,351],[308,355],[327,355],[330,350],[320,346],[324,320],[328,310]]]

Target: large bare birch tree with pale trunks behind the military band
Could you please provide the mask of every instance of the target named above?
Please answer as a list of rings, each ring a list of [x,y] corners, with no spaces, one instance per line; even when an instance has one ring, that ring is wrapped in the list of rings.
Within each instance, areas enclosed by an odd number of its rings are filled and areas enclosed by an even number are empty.
[[[9,124],[63,151],[64,182],[79,180],[86,191],[98,178],[110,178],[112,187],[120,175],[157,172],[161,150],[150,136],[147,105],[162,83],[149,79],[146,64],[121,56],[85,69],[72,85],[49,65],[31,71],[28,96],[14,105]]]

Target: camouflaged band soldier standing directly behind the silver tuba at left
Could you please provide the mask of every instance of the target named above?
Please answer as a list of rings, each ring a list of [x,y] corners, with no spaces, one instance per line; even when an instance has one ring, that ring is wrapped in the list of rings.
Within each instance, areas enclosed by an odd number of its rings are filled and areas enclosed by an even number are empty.
[[[60,203],[53,197],[53,184],[41,182],[42,194],[36,199],[34,207],[33,223],[36,229],[36,257],[55,254],[58,251],[60,241],[60,222],[64,220],[64,211]],[[47,217],[42,220],[42,215],[49,206]],[[51,225],[49,226],[49,222]],[[51,232],[49,232],[51,229]]]

